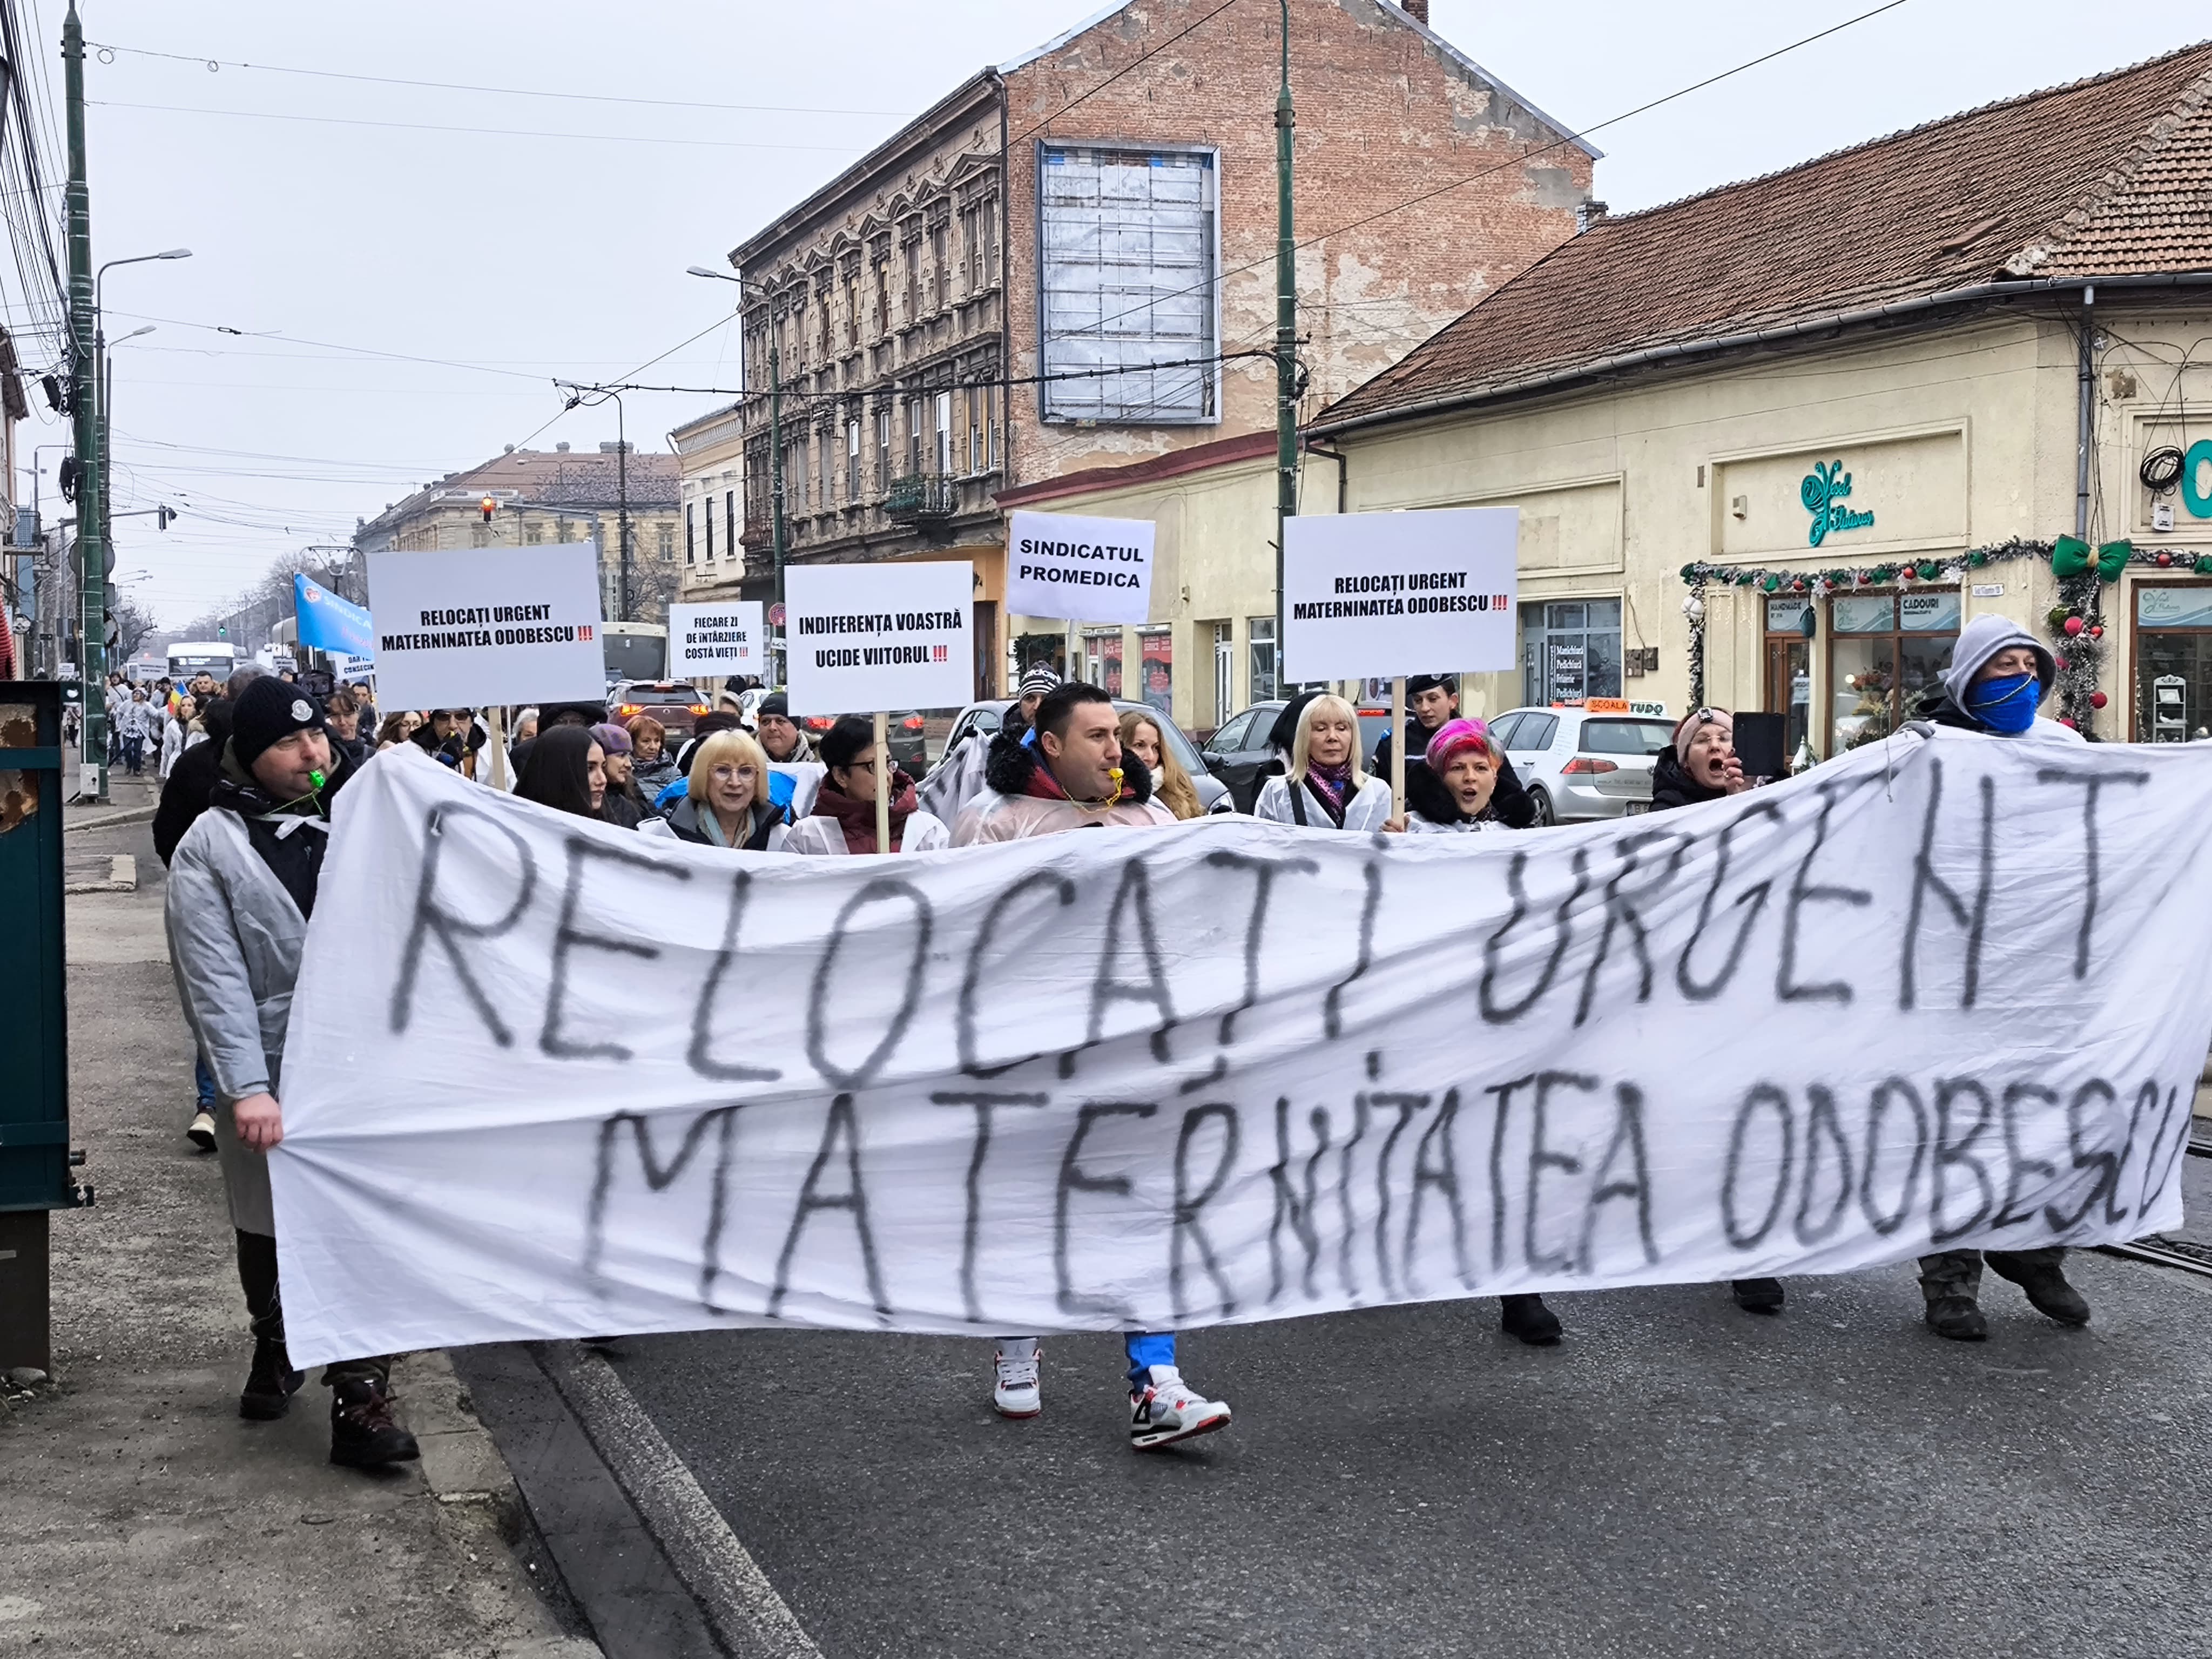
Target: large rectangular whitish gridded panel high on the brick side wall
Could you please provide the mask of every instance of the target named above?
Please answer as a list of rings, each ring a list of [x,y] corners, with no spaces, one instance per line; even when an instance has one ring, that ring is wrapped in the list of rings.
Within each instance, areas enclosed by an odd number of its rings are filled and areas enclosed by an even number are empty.
[[[1044,148],[1046,420],[1219,418],[1214,157]],[[1159,367],[1172,363],[1177,367]]]

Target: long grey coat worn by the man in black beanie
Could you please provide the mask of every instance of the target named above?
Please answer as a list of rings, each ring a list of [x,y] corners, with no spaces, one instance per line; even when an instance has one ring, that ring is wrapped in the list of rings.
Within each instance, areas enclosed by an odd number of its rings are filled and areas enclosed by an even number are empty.
[[[285,834],[319,836],[321,818],[290,818]],[[215,1077],[215,1144],[230,1197],[230,1225],[276,1237],[268,1159],[246,1148],[230,1106],[276,1095],[292,984],[307,918],[254,852],[237,812],[201,812],[168,865],[168,964],[199,1053]]]

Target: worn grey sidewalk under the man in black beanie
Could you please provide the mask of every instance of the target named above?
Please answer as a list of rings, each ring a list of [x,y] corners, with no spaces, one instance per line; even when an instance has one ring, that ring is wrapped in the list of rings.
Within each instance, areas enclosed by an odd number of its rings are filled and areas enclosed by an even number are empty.
[[[71,1128],[100,1203],[53,1217],[55,1376],[0,1385],[0,1655],[597,1659],[535,1593],[533,1542],[502,1542],[513,1482],[442,1354],[396,1371],[422,1462],[392,1475],[330,1467],[316,1380],[283,1422],[239,1418],[250,1338],[221,1177],[184,1139],[161,863],[144,821],[66,856],[137,883],[69,898]]]

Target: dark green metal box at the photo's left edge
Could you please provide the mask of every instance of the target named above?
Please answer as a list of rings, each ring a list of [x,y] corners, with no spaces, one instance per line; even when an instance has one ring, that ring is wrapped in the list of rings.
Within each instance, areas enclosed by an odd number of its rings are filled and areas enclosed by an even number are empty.
[[[91,1203],[69,1148],[62,686],[0,679],[0,1369],[51,1363],[46,1212]]]

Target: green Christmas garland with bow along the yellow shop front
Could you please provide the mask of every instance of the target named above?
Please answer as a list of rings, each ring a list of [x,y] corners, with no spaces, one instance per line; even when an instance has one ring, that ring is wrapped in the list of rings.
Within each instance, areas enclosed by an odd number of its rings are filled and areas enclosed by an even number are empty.
[[[2044,626],[2051,633],[2051,655],[2059,666],[2059,719],[2084,737],[2095,737],[2093,719],[2110,701],[2097,690],[2097,677],[2104,668],[2104,586],[2119,582],[2121,571],[2130,564],[2212,575],[2212,555],[2152,553],[2130,542],[2106,542],[2099,549],[2090,549],[2073,535],[2062,535],[2055,542],[2013,538],[2011,542],[1978,546],[1949,557],[1836,566],[1827,571],[1772,571],[1694,560],[1681,566],[1681,580],[1690,588],[1690,595],[1681,602],[1681,613],[1690,619],[1690,706],[1703,708],[1705,703],[1705,588],[1710,584],[1750,588],[1761,595],[1803,593],[1807,599],[1887,586],[1909,593],[1916,584],[1958,586],[1960,580],[1975,571],[1986,571],[1993,564],[2013,564],[2015,560],[2042,560],[2057,575],[2059,602],[2046,613]]]

